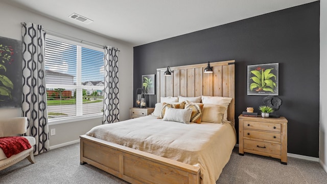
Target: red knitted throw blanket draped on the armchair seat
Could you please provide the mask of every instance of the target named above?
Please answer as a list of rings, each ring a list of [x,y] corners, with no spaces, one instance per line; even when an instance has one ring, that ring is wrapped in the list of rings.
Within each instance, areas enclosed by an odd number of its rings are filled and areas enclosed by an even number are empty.
[[[31,148],[29,141],[25,137],[11,136],[0,137],[0,148],[4,151],[7,158],[21,151]]]

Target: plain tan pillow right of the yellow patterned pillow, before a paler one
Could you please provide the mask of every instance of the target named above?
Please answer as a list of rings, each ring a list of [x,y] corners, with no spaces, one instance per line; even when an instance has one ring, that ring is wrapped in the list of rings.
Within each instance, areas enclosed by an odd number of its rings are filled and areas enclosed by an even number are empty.
[[[225,106],[216,104],[203,104],[202,122],[222,123]]]

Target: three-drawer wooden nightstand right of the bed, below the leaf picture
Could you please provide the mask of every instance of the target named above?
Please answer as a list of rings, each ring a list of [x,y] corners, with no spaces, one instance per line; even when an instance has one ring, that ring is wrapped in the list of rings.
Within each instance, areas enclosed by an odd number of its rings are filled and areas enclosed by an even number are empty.
[[[287,119],[239,116],[239,154],[281,159],[287,165]]]

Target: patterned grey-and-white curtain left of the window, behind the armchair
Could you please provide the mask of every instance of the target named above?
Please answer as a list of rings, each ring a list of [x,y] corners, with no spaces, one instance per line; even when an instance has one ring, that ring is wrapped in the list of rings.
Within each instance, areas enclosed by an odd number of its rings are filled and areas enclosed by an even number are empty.
[[[44,78],[45,32],[42,26],[22,25],[22,116],[28,136],[35,138],[34,155],[49,150],[48,111]]]

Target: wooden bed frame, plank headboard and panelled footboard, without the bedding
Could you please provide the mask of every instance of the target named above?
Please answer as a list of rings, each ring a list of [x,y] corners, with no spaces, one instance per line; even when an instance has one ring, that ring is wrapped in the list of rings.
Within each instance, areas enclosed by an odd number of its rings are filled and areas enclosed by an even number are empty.
[[[235,61],[212,62],[214,73],[203,73],[207,63],[157,69],[157,102],[160,97],[231,97],[227,119],[235,123]],[[202,87],[201,87],[202,86]],[[90,164],[130,183],[200,183],[200,167],[110,143],[80,136],[81,165]]]

